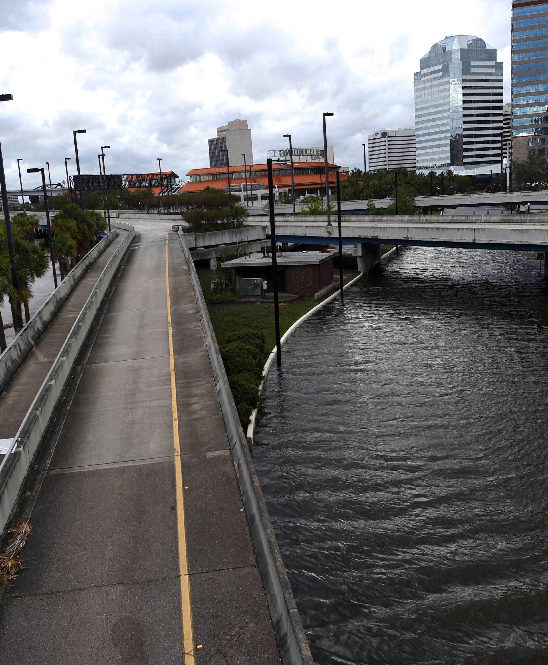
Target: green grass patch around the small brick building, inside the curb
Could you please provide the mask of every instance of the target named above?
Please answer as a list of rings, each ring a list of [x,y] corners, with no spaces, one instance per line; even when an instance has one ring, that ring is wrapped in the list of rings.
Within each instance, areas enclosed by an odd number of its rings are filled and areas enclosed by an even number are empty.
[[[348,270],[345,270],[344,273],[348,275],[344,279],[345,284],[359,274],[358,271]],[[213,325],[219,346],[222,347],[226,344],[226,338],[231,332],[241,331],[246,328],[263,333],[267,350],[271,350],[275,346],[274,304],[259,305],[251,301],[245,305],[215,305],[209,303],[213,271],[198,270],[198,279],[200,279],[200,285],[202,285],[202,291],[204,291],[209,317],[211,318],[211,324]],[[303,299],[289,303],[280,301],[281,334],[284,334],[297,319],[300,319],[329,295],[328,293],[324,298],[319,300]]]

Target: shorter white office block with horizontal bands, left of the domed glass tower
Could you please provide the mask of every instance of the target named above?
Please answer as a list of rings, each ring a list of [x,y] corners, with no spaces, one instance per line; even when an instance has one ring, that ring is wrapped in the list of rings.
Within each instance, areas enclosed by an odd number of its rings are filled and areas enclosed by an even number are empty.
[[[380,129],[368,134],[367,152],[369,170],[406,168],[417,166],[414,129]]]

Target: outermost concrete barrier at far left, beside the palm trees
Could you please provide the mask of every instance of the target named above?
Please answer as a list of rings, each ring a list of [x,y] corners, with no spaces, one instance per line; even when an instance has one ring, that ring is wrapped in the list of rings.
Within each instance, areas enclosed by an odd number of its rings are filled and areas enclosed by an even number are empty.
[[[72,289],[74,289],[82,278],[82,275],[86,273],[90,265],[96,261],[117,236],[118,231],[110,231],[93,249],[88,251],[84,258],[63,279],[57,289],[53,291],[29,323],[25,325],[5,349],[0,356],[0,392],[7,386],[13,374],[15,374],[21,365],[21,362],[25,360],[31,348],[33,348],[41,334],[45,331],[55,313],[67,300]]]

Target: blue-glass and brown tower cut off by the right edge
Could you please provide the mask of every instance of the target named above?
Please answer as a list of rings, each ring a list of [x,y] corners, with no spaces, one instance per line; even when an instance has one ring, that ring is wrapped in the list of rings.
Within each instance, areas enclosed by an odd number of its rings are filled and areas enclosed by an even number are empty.
[[[512,158],[547,156],[548,3],[512,3]]]

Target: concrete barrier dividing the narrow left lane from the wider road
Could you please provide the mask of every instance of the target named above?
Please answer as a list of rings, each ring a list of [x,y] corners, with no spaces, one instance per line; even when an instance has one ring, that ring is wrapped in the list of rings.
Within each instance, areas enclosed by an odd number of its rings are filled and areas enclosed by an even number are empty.
[[[63,394],[74,362],[84,344],[86,335],[90,331],[102,299],[108,287],[110,287],[116,269],[122,262],[134,237],[135,231],[129,231],[108,260],[27,411],[11,448],[9,448],[0,464],[0,533],[5,531],[17,507],[19,493],[31,467],[31,462],[39,448],[59,398]]]

